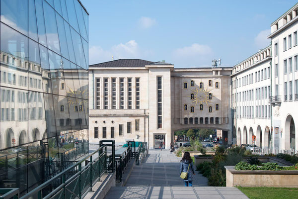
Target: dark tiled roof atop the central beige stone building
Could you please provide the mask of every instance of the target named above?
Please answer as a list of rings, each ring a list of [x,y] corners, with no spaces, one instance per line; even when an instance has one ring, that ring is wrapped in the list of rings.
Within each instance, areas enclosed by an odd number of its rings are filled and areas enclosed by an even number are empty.
[[[118,59],[109,62],[103,62],[99,64],[93,64],[89,67],[101,67],[101,68],[110,68],[110,67],[145,67],[145,65],[153,64],[154,62],[150,62],[143,59]]]

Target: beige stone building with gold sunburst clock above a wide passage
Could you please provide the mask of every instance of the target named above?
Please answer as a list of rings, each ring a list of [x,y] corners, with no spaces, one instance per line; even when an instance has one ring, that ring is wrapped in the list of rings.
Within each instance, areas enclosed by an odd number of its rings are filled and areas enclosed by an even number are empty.
[[[168,148],[174,131],[189,128],[222,129],[231,142],[230,75],[231,68],[179,69],[140,59],[90,65],[90,142]]]

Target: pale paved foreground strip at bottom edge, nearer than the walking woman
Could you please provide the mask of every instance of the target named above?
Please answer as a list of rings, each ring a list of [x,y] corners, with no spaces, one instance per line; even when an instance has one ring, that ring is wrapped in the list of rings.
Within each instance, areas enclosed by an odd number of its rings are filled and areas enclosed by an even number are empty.
[[[248,199],[234,187],[112,187],[105,199]]]

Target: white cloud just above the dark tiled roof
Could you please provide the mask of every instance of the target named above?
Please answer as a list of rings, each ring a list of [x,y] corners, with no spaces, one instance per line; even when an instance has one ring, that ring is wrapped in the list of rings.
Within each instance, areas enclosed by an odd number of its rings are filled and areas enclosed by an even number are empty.
[[[112,56],[116,59],[145,59],[151,55],[151,51],[141,49],[135,40],[127,43],[117,44],[110,49],[103,49],[100,46],[91,46],[89,48],[89,64],[97,64],[101,62],[111,61]]]

